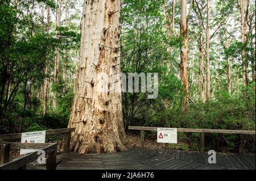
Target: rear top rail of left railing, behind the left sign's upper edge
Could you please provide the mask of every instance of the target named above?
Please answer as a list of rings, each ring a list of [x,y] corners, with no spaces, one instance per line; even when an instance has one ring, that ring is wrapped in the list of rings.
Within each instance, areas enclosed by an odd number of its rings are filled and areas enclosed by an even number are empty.
[[[46,130],[46,135],[52,134],[63,134],[75,131],[75,128],[64,128],[64,129],[52,129]],[[0,134],[0,140],[15,140],[20,139],[22,133],[13,133],[13,134]]]

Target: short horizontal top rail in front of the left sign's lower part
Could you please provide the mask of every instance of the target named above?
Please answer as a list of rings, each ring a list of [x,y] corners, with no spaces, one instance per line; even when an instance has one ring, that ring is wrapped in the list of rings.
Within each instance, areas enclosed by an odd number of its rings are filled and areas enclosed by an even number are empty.
[[[22,142],[10,142],[10,149],[44,149],[47,146],[52,145],[49,143],[40,144],[40,143],[22,143]]]

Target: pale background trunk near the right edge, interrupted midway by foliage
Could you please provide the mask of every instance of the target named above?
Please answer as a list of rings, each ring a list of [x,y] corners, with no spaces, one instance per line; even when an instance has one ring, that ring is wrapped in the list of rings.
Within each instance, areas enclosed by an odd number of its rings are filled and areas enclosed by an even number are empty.
[[[246,23],[245,23],[245,1],[240,0],[241,2],[241,42],[242,45],[246,42]],[[246,59],[246,50],[242,48],[242,65],[243,65],[243,86],[248,85],[248,76],[247,76],[247,69],[248,69],[248,62]]]

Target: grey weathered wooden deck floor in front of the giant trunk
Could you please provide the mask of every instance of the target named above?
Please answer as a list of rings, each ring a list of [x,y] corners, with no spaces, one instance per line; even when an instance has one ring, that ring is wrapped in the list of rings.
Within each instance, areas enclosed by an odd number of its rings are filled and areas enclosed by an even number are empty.
[[[128,149],[108,154],[61,154],[57,170],[254,170],[255,154],[218,153],[216,164],[195,151]],[[39,167],[38,167],[39,169]]]

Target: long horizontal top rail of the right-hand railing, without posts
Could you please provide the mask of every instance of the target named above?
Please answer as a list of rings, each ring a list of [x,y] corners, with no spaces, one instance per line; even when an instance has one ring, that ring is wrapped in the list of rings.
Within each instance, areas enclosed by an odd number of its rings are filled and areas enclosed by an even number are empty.
[[[157,131],[156,127],[134,127],[129,126],[130,130]],[[177,132],[189,133],[227,133],[227,134],[255,134],[250,130],[229,130],[229,129],[193,129],[193,128],[177,128]]]

